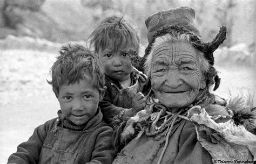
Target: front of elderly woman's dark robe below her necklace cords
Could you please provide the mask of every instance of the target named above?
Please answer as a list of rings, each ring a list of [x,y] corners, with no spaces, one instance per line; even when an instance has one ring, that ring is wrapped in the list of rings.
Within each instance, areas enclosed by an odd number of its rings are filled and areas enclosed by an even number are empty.
[[[153,132],[154,129],[151,128]],[[166,130],[156,137],[145,134],[133,139],[113,163],[157,163],[165,145]],[[212,163],[211,155],[197,140],[194,125],[187,120],[173,126],[169,144],[161,163]]]

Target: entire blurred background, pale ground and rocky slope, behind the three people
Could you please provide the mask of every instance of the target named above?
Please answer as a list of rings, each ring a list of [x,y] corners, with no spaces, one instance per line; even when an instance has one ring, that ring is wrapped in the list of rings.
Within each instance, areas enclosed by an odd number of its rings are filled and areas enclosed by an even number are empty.
[[[184,5],[196,11],[204,41],[227,26],[227,40],[214,52],[221,77],[217,94],[255,94],[254,0],[0,0],[0,163],[36,126],[57,116],[59,105],[46,79],[62,45],[85,45],[100,20],[123,14],[140,33],[143,55],[145,19]]]

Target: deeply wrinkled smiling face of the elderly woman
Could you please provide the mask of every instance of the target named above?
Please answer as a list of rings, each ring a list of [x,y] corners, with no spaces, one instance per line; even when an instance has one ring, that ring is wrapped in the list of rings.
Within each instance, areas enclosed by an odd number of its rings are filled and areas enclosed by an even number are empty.
[[[194,47],[176,42],[157,48],[152,58],[151,84],[156,98],[168,108],[190,105],[206,87]]]

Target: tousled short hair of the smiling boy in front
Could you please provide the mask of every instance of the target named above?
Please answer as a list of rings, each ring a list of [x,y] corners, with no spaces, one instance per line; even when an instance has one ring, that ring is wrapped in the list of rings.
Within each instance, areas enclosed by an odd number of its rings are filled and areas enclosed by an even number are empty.
[[[91,83],[99,91],[104,88],[104,73],[99,64],[98,57],[93,55],[87,48],[80,45],[63,46],[60,56],[53,63],[50,71],[52,74],[52,90],[56,97],[59,94],[59,88],[63,84],[74,84],[82,79],[91,78]]]

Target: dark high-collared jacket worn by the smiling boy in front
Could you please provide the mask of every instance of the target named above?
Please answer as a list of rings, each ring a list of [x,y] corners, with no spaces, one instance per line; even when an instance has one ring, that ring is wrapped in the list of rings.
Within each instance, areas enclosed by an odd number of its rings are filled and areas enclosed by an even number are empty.
[[[100,110],[81,130],[66,119],[56,119],[38,126],[8,163],[112,163],[113,130],[102,122]]]

